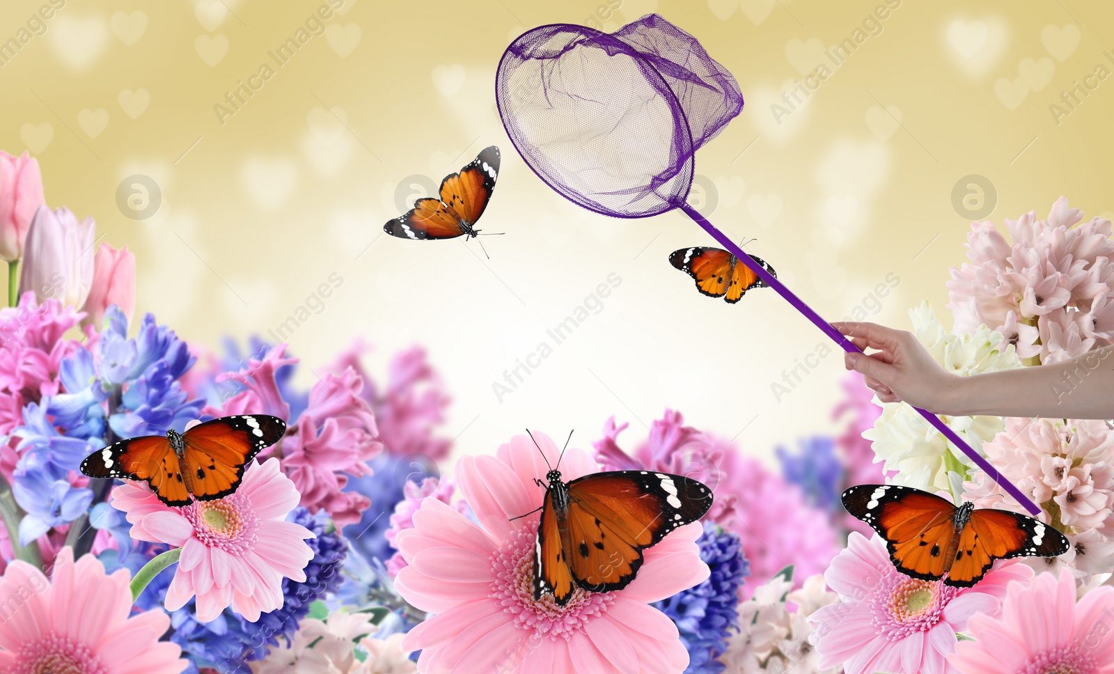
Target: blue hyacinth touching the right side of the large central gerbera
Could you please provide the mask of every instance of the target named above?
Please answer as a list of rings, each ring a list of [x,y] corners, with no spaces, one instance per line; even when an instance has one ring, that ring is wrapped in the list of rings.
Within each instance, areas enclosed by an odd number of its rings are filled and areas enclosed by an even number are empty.
[[[739,586],[750,575],[739,536],[705,522],[697,540],[700,557],[712,574],[696,587],[654,604],[670,616],[688,651],[685,674],[716,674],[727,649],[727,637],[739,629]]]

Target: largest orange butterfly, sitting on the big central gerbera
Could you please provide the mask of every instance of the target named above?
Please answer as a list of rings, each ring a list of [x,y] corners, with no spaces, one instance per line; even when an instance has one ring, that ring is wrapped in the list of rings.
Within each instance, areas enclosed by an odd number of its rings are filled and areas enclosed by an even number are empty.
[[[535,547],[534,599],[553,594],[560,606],[577,587],[623,589],[642,567],[644,549],[712,507],[712,490],[703,483],[653,470],[594,472],[565,482],[550,468],[546,481],[537,480],[546,496]]]

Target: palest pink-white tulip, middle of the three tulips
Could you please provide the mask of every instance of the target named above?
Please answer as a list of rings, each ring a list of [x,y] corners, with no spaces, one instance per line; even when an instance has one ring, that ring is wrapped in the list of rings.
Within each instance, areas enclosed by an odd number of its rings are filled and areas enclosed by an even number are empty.
[[[53,297],[81,306],[92,285],[92,244],[97,224],[77,222],[69,208],[39,206],[27,232],[19,294],[33,292],[40,302]]]

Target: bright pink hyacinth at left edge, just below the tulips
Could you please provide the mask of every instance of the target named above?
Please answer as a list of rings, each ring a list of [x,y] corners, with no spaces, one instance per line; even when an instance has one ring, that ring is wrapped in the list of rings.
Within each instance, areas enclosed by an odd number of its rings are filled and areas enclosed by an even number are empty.
[[[61,362],[81,346],[62,335],[82,315],[58,300],[39,303],[35,293],[0,309],[0,434],[23,423],[27,404],[59,392]]]

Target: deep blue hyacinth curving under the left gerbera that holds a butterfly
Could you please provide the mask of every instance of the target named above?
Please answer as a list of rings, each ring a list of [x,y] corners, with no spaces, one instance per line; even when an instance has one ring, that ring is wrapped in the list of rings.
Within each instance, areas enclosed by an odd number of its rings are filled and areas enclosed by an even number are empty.
[[[328,520],[310,515],[299,506],[286,518],[310,529],[316,538],[306,540],[313,549],[313,559],[305,567],[305,580],[300,583],[283,578],[282,607],[264,613],[255,623],[248,623],[240,615],[225,608],[215,621],[197,621],[194,600],[170,615],[174,634],[170,641],[182,646],[184,653],[194,657],[202,666],[213,666],[218,672],[248,674],[248,663],[266,656],[271,645],[280,638],[291,639],[299,623],[310,613],[310,604],[325,594],[335,593],[341,582],[348,544],[339,533],[325,533]],[[173,577],[174,567],[159,574],[159,578]],[[164,590],[165,593],[165,586]],[[193,670],[186,670],[192,672]]]

